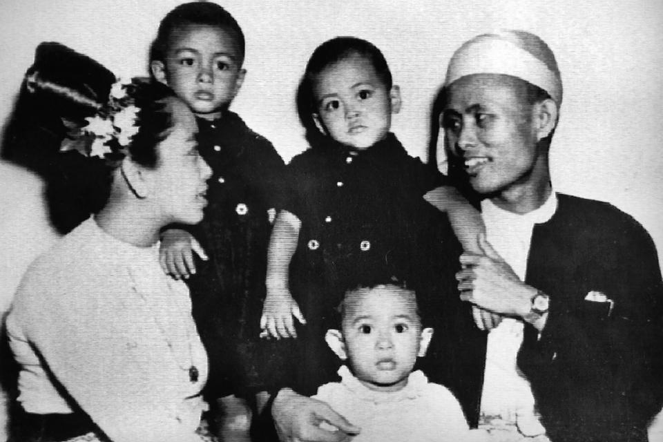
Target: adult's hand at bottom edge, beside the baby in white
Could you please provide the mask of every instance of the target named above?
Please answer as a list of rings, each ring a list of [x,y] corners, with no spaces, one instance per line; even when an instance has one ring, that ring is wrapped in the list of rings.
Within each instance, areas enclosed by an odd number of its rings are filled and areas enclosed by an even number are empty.
[[[271,405],[271,415],[281,442],[347,442],[360,429],[345,420],[324,402],[285,388],[278,392]],[[320,428],[326,422],[338,428]]]

